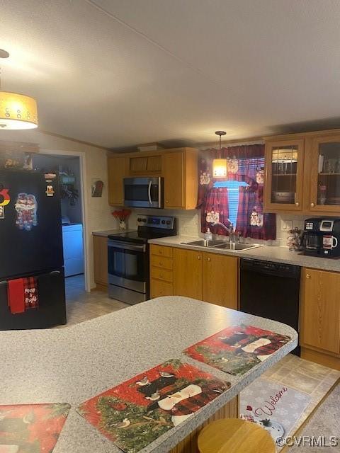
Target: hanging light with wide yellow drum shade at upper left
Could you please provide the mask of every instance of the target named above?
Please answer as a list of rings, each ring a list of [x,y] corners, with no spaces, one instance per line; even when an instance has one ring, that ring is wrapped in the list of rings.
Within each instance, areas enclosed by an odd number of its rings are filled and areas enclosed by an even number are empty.
[[[0,58],[8,58],[0,49]],[[21,93],[2,91],[0,74],[0,130],[35,129],[38,127],[37,101]]]

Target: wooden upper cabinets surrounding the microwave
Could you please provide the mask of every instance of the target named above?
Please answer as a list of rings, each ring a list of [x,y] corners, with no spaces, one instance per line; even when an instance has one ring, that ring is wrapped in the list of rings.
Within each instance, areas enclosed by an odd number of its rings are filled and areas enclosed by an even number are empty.
[[[123,206],[123,178],[162,176],[164,208],[193,210],[198,191],[198,151],[194,148],[120,154],[108,158],[108,200]]]

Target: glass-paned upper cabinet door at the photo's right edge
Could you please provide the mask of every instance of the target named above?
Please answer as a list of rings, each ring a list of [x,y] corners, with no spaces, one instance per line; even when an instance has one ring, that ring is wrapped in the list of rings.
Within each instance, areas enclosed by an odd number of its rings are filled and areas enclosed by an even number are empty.
[[[340,213],[340,135],[312,142],[310,206],[312,212]]]

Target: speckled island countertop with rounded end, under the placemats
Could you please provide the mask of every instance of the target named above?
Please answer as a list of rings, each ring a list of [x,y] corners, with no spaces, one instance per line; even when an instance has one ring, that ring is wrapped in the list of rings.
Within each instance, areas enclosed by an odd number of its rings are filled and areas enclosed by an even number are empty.
[[[228,326],[245,323],[291,340],[242,376],[220,372],[183,355],[183,349]],[[192,417],[141,452],[161,453],[179,443],[239,391],[297,345],[285,324],[187,297],[159,297],[63,329],[1,331],[0,404],[69,403],[72,408],[54,453],[121,452],[77,412],[84,401],[169,359],[231,382]]]

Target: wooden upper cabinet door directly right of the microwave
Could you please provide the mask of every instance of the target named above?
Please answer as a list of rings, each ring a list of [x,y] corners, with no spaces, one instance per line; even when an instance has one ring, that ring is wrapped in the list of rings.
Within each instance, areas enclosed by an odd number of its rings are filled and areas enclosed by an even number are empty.
[[[164,176],[164,207],[184,207],[184,153],[166,153],[162,156]]]

